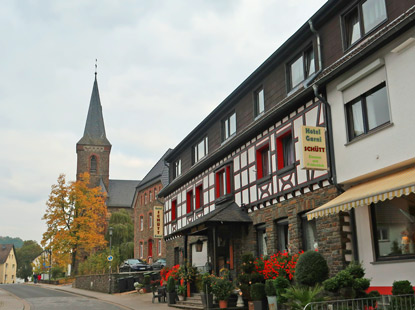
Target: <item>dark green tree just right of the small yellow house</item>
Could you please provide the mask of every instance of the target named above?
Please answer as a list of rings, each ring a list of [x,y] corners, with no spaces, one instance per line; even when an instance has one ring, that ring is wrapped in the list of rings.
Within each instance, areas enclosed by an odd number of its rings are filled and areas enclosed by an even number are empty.
[[[27,278],[32,275],[32,262],[42,251],[40,245],[34,240],[24,241],[22,247],[16,249],[17,276],[19,278],[27,281]]]

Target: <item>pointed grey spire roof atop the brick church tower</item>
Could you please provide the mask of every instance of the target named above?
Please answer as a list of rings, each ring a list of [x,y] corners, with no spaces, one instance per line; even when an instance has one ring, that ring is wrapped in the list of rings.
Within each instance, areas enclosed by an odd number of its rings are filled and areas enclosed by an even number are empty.
[[[94,87],[89,103],[88,116],[86,118],[84,136],[78,144],[110,146],[105,135],[104,117],[102,116],[101,100],[99,99],[98,82],[95,74]]]

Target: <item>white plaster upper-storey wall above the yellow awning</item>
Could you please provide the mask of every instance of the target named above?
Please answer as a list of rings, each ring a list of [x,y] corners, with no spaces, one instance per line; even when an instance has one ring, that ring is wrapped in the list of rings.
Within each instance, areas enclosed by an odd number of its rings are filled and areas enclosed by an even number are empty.
[[[339,183],[415,157],[415,44],[400,53],[392,52],[410,35],[415,36],[415,30],[378,51],[370,59],[353,71],[339,77],[327,87],[328,102],[332,107]],[[392,125],[346,145],[343,94],[336,87],[378,58],[383,58],[385,61],[385,66],[379,70],[385,70],[386,74]],[[362,81],[369,83],[368,78]]]

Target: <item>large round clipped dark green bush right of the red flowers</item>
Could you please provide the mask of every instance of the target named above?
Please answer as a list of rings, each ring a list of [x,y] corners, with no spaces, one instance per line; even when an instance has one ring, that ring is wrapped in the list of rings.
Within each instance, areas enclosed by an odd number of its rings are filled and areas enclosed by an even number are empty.
[[[315,251],[307,251],[300,255],[295,267],[297,283],[314,286],[322,283],[329,275],[329,267],[323,255]]]

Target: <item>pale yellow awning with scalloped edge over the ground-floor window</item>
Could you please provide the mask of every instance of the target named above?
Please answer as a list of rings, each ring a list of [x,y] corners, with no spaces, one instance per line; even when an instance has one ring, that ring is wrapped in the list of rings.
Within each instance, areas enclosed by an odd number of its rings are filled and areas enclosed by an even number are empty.
[[[351,208],[367,206],[410,193],[415,193],[415,168],[356,185],[321,207],[308,212],[307,219],[348,211]]]

